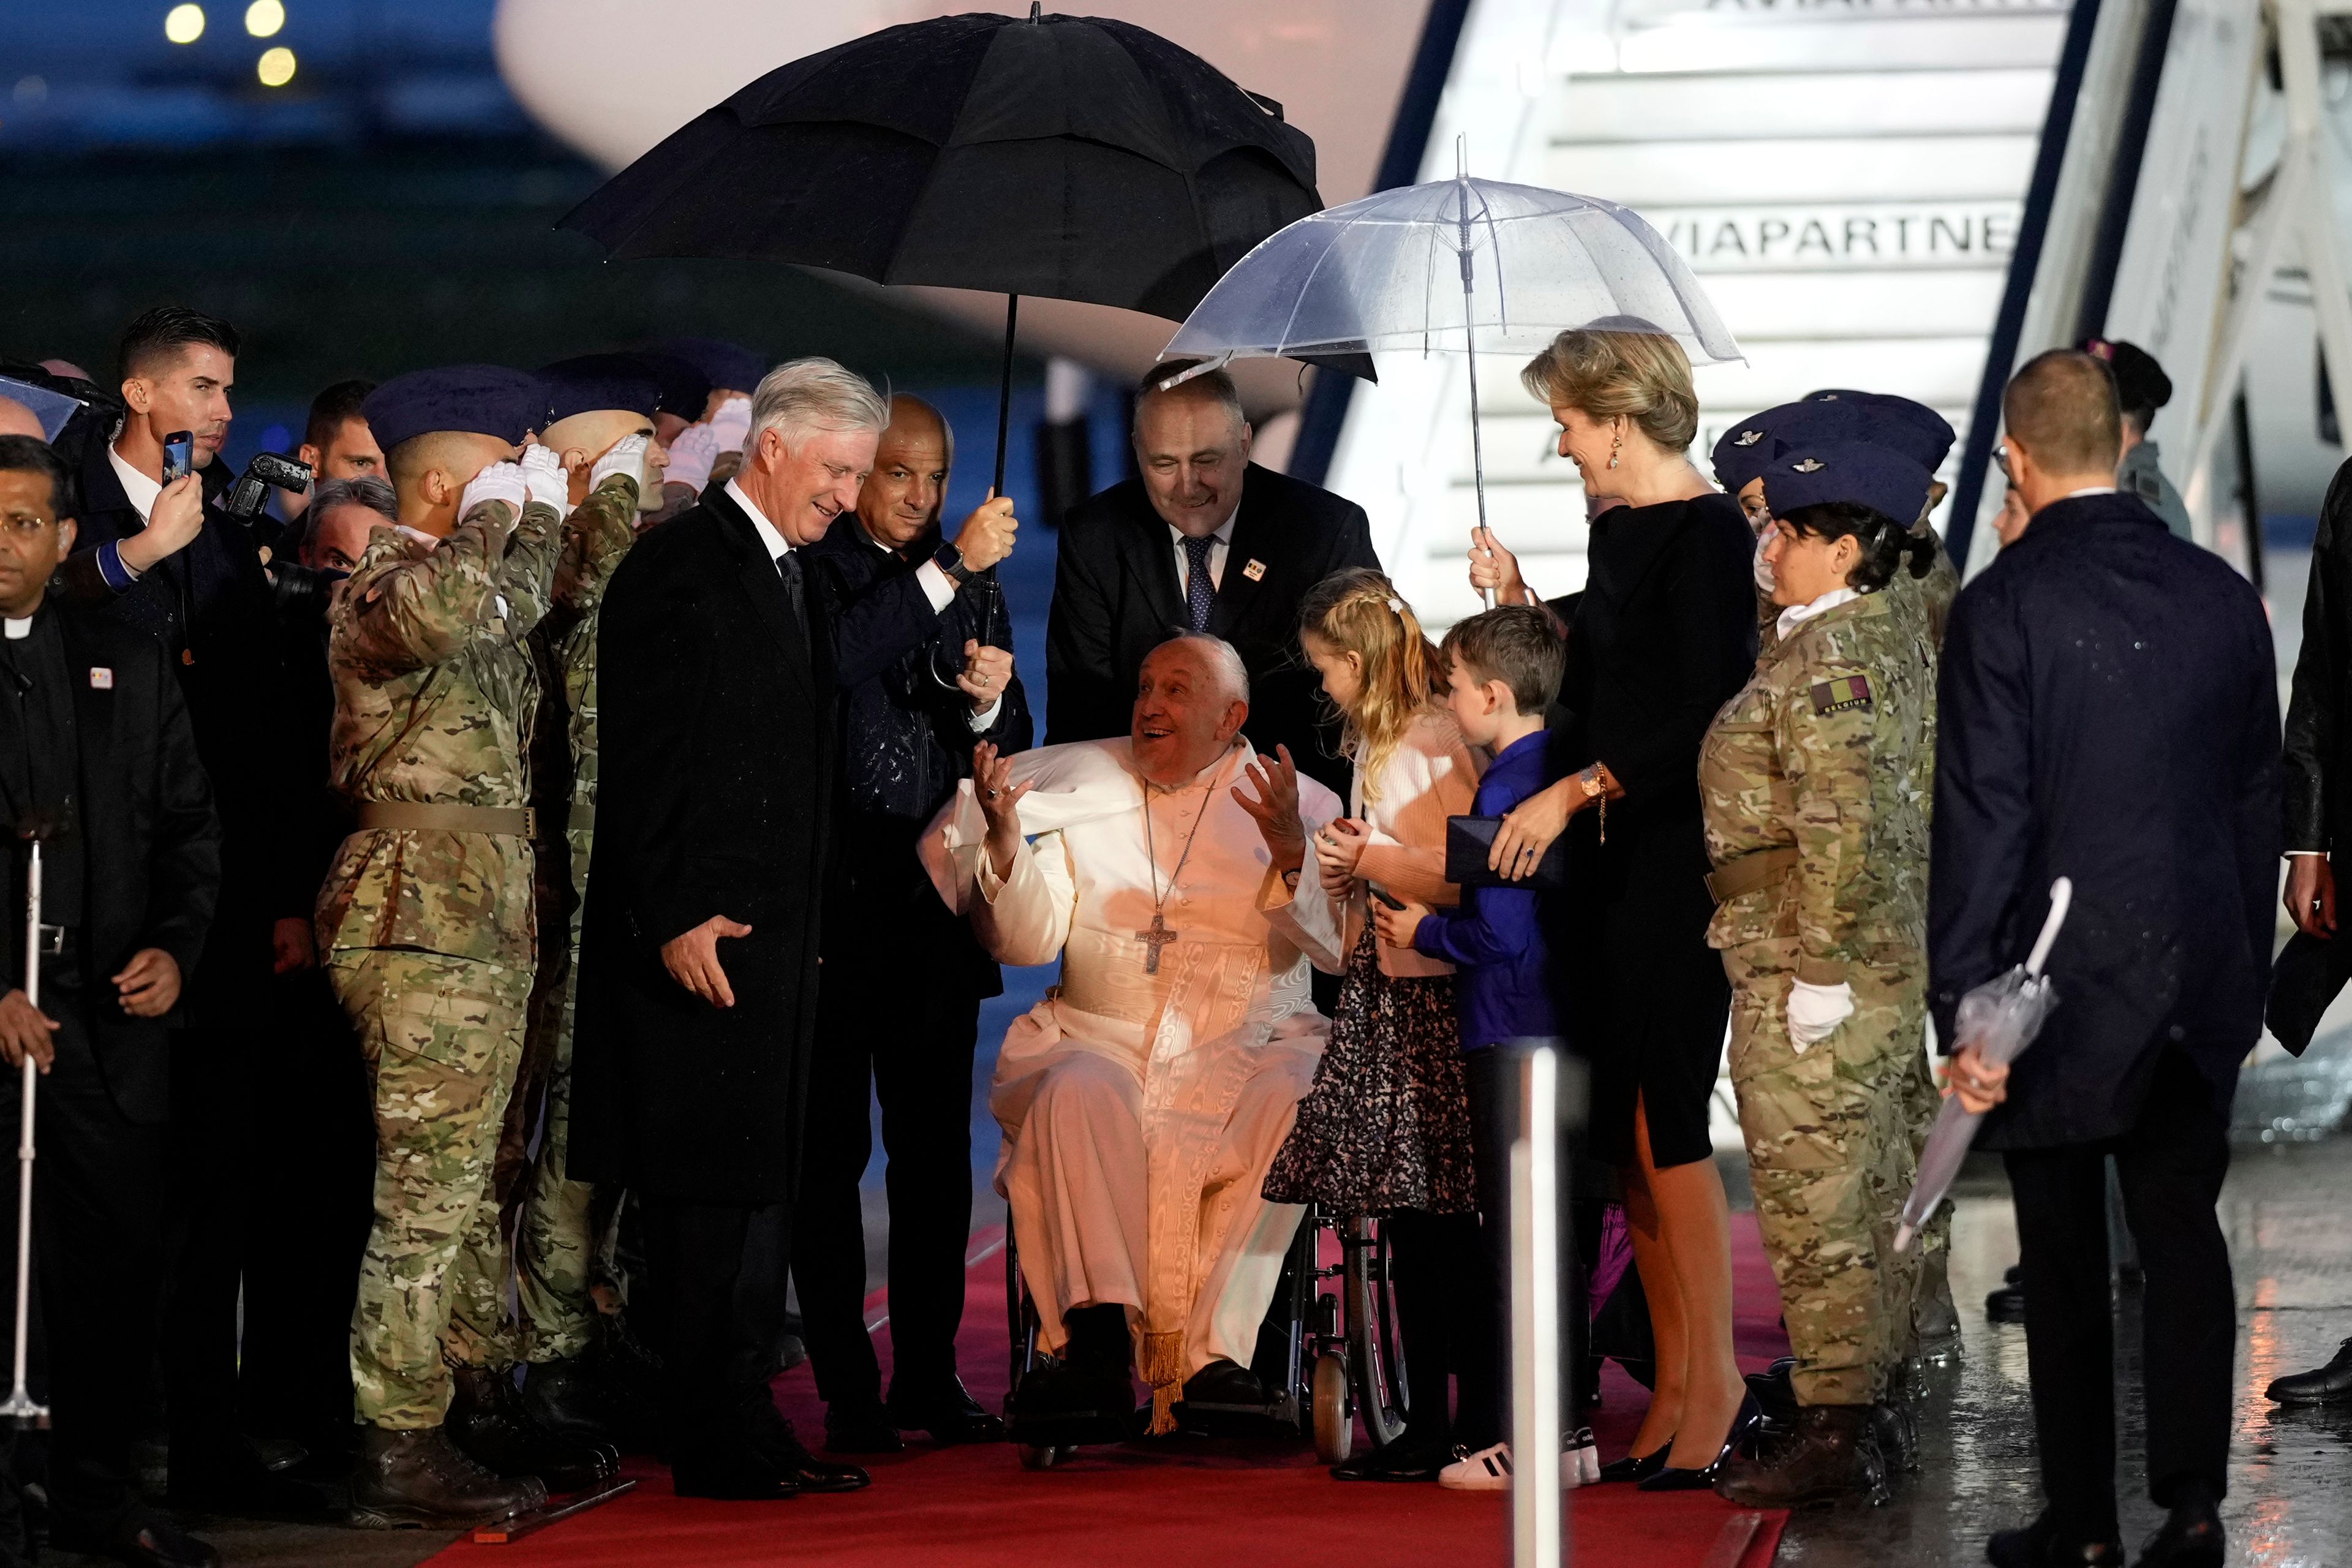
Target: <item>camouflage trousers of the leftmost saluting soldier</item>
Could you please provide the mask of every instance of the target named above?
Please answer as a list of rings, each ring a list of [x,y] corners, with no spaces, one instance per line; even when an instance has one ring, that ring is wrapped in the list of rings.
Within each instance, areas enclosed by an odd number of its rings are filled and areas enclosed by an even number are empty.
[[[350,1319],[358,1418],[437,1427],[449,1363],[508,1366],[506,1234],[492,1164],[522,1060],[532,976],[360,947],[327,973],[376,1100],[376,1222]]]

